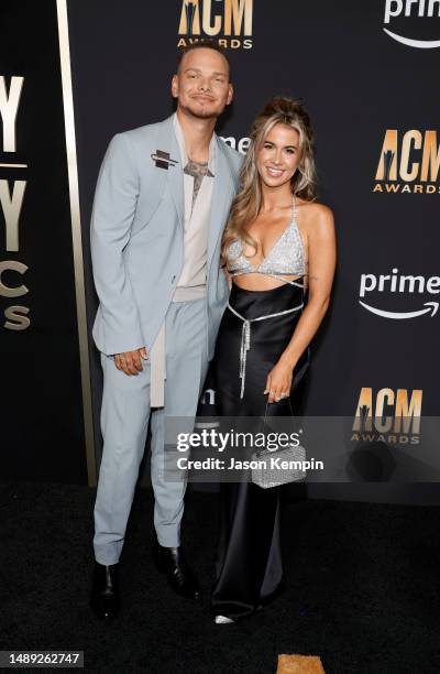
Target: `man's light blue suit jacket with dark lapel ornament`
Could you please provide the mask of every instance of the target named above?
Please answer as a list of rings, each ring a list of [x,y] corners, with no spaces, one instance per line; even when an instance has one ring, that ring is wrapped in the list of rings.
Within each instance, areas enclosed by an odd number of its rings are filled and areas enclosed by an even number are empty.
[[[235,195],[241,155],[217,135],[216,177],[208,235],[208,357],[228,301],[220,242]],[[178,163],[155,165],[168,152]],[[99,173],[92,217],[91,259],[100,300],[92,335],[107,355],[151,349],[184,262],[184,173],[173,116],[111,140]]]

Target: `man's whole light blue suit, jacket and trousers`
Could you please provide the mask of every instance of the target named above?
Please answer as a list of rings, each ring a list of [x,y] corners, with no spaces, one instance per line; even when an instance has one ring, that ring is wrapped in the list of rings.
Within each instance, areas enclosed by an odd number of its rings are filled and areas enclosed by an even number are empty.
[[[94,278],[100,305],[94,339],[101,351],[105,438],[95,506],[95,556],[118,562],[150,417],[150,361],[138,376],[121,372],[113,354],[152,348],[165,324],[165,406],[152,414],[154,522],[161,545],[179,545],[186,476],[163,475],[165,415],[194,417],[213,356],[228,283],[220,270],[221,235],[238,188],[241,155],[216,137],[216,173],[208,233],[207,294],[172,302],[184,262],[184,180],[173,117],[117,134],[98,177],[91,219]],[[168,170],[152,155],[178,162]]]

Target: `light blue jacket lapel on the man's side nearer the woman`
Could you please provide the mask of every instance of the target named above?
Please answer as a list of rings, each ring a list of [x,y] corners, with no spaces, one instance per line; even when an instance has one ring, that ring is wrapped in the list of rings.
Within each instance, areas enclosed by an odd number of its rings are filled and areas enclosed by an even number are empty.
[[[235,194],[235,186],[232,178],[231,167],[226,156],[223,142],[216,135],[216,177],[213,181],[211,217],[209,222],[208,236],[208,269],[212,261],[217,241],[223,233],[227,222],[229,208]]]

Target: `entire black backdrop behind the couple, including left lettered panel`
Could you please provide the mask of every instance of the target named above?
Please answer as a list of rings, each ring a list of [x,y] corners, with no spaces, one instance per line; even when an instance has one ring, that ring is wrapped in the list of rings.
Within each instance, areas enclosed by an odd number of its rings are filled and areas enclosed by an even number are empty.
[[[75,127],[63,94],[65,10]],[[173,111],[179,47],[210,37],[227,48],[235,88],[219,135],[245,152],[272,95],[300,98],[319,200],[336,217],[332,305],[302,412],[348,420],[342,455],[371,460],[352,461],[355,485],[309,492],[409,501],[415,488],[392,485],[389,452],[409,452],[419,480],[424,424],[439,414],[440,1],[14,0],[1,12],[2,472],[95,481],[102,381],[89,219],[99,166],[114,133]],[[208,381],[201,412],[213,402]]]

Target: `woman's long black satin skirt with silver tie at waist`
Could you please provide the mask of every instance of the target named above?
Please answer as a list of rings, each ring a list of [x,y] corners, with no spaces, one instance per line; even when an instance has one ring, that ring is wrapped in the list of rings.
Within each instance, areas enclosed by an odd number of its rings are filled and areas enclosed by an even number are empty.
[[[230,305],[244,318],[283,312],[301,304],[304,290],[282,285],[268,291],[246,291],[232,284]],[[220,416],[264,417],[263,394],[268,371],[287,347],[301,311],[252,323],[244,396],[240,398],[240,348],[243,322],[226,309],[212,363],[216,409]],[[294,371],[290,402],[267,406],[267,416],[288,416],[298,406],[295,398],[308,368],[308,354]],[[221,482],[220,539],[216,581],[211,595],[213,615],[233,619],[253,613],[282,589],[283,565],[279,541],[279,490],[262,489],[253,482]]]

